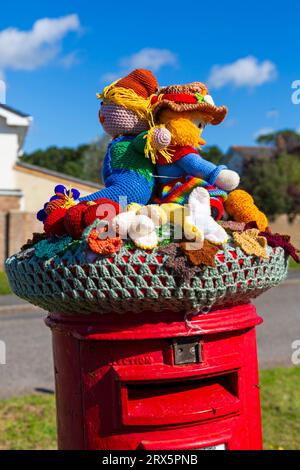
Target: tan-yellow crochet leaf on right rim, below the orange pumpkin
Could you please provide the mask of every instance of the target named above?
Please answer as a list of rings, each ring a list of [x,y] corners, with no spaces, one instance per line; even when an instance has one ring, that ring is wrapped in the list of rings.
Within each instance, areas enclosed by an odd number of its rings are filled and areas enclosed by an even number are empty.
[[[259,234],[259,230],[252,228],[242,233],[234,232],[233,238],[247,255],[268,258],[267,239]]]

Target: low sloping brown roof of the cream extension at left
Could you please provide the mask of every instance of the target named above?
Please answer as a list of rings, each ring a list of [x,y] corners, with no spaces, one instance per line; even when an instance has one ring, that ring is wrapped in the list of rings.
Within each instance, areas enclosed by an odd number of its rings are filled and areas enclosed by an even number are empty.
[[[48,168],[44,168],[41,166],[37,165],[31,165],[29,163],[22,162],[21,160],[18,160],[16,165],[15,165],[15,170],[21,171],[24,173],[29,173],[33,176],[37,176],[40,178],[46,178],[46,179],[51,179],[54,182],[60,182],[61,184],[67,184],[71,183],[78,187],[78,189],[86,189],[87,191],[89,190],[94,190],[95,188],[101,189],[101,185],[98,183],[92,182],[92,181],[86,181],[82,180],[80,178],[75,178],[70,175],[66,175],[64,173],[59,173],[57,171],[53,170],[48,170]]]

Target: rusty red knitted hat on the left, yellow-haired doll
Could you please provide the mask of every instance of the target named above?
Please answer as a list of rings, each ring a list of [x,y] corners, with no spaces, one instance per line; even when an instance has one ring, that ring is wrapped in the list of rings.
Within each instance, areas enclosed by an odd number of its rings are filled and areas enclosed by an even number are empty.
[[[158,90],[158,83],[150,70],[136,69],[124,78],[121,78],[116,87],[129,88],[143,98],[147,99]]]

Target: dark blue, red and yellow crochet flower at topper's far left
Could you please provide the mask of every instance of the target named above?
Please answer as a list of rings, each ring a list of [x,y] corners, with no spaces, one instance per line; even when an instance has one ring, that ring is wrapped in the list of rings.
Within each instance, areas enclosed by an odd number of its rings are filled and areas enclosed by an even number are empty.
[[[67,189],[62,184],[55,186],[54,193],[55,195],[44,204],[44,208],[37,213],[37,219],[41,222],[45,222],[48,215],[59,207],[69,209],[74,206],[80,197],[80,192],[77,189]]]

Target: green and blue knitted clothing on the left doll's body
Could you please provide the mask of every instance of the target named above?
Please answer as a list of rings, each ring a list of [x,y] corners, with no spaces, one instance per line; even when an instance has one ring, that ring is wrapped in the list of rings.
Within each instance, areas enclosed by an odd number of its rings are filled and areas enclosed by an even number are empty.
[[[81,201],[108,198],[122,206],[137,202],[147,204],[154,187],[153,164],[145,158],[147,132],[138,136],[121,136],[113,139],[104,157],[103,180],[105,188],[82,197]],[[126,197],[126,201],[120,197]]]

